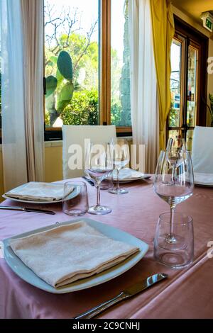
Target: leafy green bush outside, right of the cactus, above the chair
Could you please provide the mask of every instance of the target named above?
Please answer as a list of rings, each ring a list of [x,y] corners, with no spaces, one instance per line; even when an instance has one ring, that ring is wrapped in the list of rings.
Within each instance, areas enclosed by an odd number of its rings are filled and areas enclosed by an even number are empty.
[[[98,125],[98,91],[75,91],[72,101],[62,111],[64,125]]]

